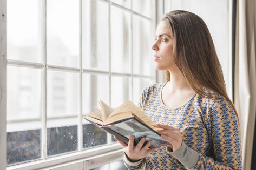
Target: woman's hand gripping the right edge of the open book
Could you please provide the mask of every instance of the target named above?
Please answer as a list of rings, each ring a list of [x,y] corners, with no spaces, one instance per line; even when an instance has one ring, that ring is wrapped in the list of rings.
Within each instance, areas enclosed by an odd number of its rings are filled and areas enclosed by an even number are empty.
[[[158,132],[161,134],[161,137],[168,141],[171,145],[168,145],[173,151],[177,151],[182,144],[182,137],[179,128],[156,124],[158,127],[163,130],[159,130]]]

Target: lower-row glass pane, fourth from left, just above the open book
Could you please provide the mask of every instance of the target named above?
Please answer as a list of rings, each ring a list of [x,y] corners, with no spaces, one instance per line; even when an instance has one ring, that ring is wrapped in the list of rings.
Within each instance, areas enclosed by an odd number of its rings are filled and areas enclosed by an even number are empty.
[[[131,100],[130,77],[111,77],[111,106],[116,108],[127,100]]]

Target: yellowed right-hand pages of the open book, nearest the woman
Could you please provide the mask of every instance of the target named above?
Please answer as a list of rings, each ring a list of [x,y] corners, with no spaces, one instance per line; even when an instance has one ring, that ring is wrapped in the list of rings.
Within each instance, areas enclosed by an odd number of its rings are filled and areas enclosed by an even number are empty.
[[[157,131],[159,128],[156,127],[156,125],[153,123],[152,120],[150,120],[147,115],[140,110],[139,107],[137,107],[135,104],[133,104],[132,101],[127,101],[126,103],[122,104],[121,106],[117,107],[114,112],[111,114],[116,114],[119,112],[132,112],[136,117],[138,117],[140,120],[142,120],[146,125],[153,128],[153,130]]]

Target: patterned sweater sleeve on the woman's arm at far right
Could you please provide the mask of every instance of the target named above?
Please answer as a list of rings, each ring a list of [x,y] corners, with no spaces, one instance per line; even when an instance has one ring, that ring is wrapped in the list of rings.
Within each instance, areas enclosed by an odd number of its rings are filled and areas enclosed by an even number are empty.
[[[242,169],[240,127],[232,105],[217,100],[210,114],[213,158],[199,153],[191,169]]]

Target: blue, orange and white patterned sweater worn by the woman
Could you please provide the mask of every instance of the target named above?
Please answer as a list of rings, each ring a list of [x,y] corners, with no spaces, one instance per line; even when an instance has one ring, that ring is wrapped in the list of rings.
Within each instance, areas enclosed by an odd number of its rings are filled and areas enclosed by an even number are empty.
[[[223,97],[209,99],[195,93],[185,105],[170,109],[161,99],[165,84],[145,87],[140,94],[139,107],[154,123],[180,129],[182,147],[184,145],[198,155],[190,168],[241,169],[240,127],[232,106]],[[128,169],[142,169],[145,166],[146,169],[188,169],[181,162],[193,159],[193,154],[185,153],[182,157],[176,157],[170,152],[166,146],[158,147],[135,163],[124,155],[124,164]]]

